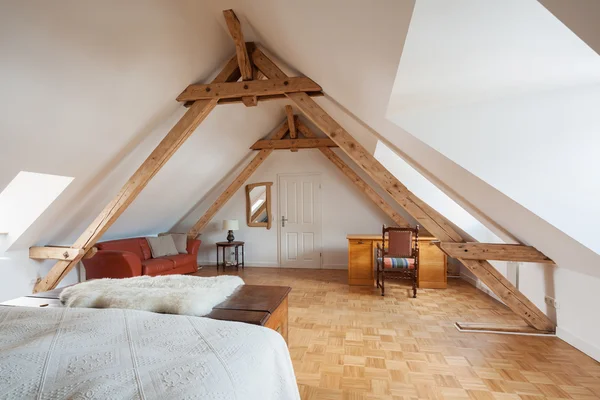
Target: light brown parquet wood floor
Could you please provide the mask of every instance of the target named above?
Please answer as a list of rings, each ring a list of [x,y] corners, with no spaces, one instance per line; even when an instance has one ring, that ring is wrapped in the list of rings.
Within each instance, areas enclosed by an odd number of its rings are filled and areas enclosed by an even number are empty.
[[[461,280],[412,299],[402,283],[387,285],[385,297],[349,287],[340,270],[239,275],[292,287],[289,348],[303,399],[600,398],[600,364],[558,338],[458,332],[456,321],[521,322]]]

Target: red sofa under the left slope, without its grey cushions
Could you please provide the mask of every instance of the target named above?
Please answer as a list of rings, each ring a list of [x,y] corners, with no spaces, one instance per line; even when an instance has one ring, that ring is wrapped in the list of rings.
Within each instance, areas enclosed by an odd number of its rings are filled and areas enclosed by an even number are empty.
[[[84,259],[87,279],[130,278],[140,275],[188,274],[198,270],[200,240],[188,239],[188,254],[152,258],[145,238],[97,243],[98,252]]]

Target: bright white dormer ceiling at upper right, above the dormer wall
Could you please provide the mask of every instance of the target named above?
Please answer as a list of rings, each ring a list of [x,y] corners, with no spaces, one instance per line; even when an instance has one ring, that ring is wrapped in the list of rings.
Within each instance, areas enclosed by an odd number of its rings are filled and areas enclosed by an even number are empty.
[[[598,54],[536,0],[417,0],[388,113],[593,82]]]

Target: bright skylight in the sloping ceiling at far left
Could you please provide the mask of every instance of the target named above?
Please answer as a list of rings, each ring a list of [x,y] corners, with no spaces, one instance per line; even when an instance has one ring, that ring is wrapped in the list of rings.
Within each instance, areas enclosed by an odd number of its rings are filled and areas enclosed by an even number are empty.
[[[16,240],[73,178],[21,171],[0,193],[0,232]]]

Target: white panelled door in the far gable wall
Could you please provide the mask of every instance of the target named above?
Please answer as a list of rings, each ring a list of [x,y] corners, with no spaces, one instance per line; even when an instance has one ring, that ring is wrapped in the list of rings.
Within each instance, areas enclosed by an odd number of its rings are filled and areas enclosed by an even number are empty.
[[[279,175],[279,265],[321,268],[321,175]]]

